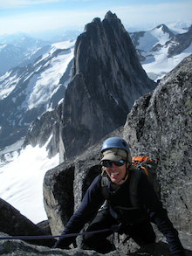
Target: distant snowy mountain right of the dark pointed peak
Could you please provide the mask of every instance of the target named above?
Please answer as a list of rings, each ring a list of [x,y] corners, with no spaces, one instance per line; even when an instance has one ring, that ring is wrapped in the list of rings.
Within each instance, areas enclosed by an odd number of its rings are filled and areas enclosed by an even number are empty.
[[[152,80],[160,80],[192,53],[192,26],[178,34],[161,24],[150,31],[130,33],[141,65]]]

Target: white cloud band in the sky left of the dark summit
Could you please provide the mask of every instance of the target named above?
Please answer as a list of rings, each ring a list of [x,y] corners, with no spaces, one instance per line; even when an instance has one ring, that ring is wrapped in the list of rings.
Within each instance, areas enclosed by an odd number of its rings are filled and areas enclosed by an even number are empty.
[[[105,15],[105,13],[103,14]],[[9,16],[0,17],[0,24],[5,24],[0,29],[0,34],[11,34],[17,31],[31,32],[31,31],[44,31],[53,30],[58,27],[67,25],[85,26],[87,23],[92,22],[94,17],[98,17],[98,13],[85,11],[67,11],[67,10],[54,10],[54,11],[38,11],[31,13],[20,13]],[[14,24],[14,25],[13,25]]]

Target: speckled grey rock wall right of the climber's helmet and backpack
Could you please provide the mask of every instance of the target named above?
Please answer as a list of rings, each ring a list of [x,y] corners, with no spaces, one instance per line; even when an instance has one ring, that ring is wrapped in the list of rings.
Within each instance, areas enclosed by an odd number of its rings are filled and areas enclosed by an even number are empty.
[[[137,100],[124,128],[132,154],[158,158],[161,196],[178,229],[191,232],[192,55]],[[175,211],[176,205],[176,211]]]

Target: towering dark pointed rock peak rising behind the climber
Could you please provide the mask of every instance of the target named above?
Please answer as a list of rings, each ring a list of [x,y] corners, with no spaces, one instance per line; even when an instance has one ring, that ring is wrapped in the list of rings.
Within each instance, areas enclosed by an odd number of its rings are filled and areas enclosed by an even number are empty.
[[[109,11],[102,22],[95,18],[87,24],[77,39],[65,100],[50,121],[50,114],[45,114],[34,122],[25,144],[52,134],[51,156],[59,151],[60,162],[63,156],[76,156],[123,125],[134,100],[155,86],[142,69],[127,31]],[[47,126],[49,134],[44,130]]]

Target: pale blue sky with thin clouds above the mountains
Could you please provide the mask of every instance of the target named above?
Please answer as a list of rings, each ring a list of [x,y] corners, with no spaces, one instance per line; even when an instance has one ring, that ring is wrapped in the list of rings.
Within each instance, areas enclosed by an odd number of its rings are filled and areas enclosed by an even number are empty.
[[[192,19],[191,0],[0,0],[0,35],[84,27],[108,10],[127,27]]]

